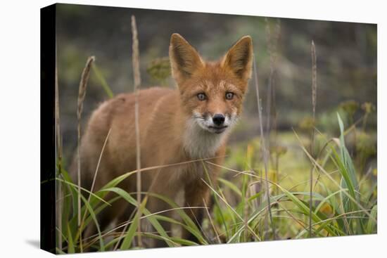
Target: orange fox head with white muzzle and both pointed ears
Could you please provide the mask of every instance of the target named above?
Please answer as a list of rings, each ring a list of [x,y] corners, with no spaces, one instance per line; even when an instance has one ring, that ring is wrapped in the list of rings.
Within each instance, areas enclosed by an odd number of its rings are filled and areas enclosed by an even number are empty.
[[[179,34],[170,41],[172,77],[190,120],[210,134],[223,134],[241,114],[253,63],[250,36],[239,39],[217,62],[206,62]]]

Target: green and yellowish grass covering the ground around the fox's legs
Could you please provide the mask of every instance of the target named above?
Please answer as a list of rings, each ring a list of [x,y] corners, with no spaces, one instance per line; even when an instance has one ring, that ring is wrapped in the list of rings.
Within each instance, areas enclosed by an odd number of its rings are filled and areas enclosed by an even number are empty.
[[[338,128],[341,131],[334,140],[324,135],[317,141],[328,142],[319,152],[319,157],[312,157],[307,151],[307,136],[297,131],[278,134],[277,144],[286,143],[286,151],[279,156],[279,171],[275,171],[273,162],[269,164],[269,193],[272,208],[275,236],[277,239],[298,239],[308,237],[308,221],[312,216],[312,236],[350,236],[376,233],[377,196],[376,170],[372,173],[360,173],[355,169],[357,155],[350,155],[345,146],[345,128],[338,116]],[[208,183],[215,200],[212,209],[205,216],[203,226],[198,228],[187,215],[184,207],[179,207],[174,200],[155,195],[160,201],[167,202],[174,209],[177,217],[165,217],[163,213],[151,214],[146,209],[146,198],[139,205],[139,211],[127,222],[125,231],[100,231],[98,214],[108,209],[112,202],[122,198],[138,206],[135,193],[127,193],[118,188],[118,183],[135,172],[129,172],[113,179],[103,188],[91,194],[82,189],[82,211],[84,223],[77,226],[77,185],[68,173],[62,169],[57,183],[62,184],[63,207],[60,232],[63,243],[58,253],[82,252],[87,247],[93,250],[137,249],[136,228],[140,219],[147,220],[156,228],[156,232],[141,232],[142,238],[164,240],[170,247],[182,245],[209,245],[212,243],[241,243],[249,241],[271,240],[274,238],[272,226],[269,225],[267,198],[264,176],[262,177],[262,155],[260,139],[253,138],[246,143],[229,146],[227,161],[217,182]],[[284,150],[284,149],[282,149]],[[271,160],[277,155],[271,153]],[[362,160],[362,159],[360,159]],[[208,167],[210,162],[203,161]],[[312,193],[312,211],[309,208],[309,172],[315,169],[315,188]],[[358,164],[357,164],[358,165]],[[108,193],[115,193],[115,198],[106,201]],[[145,194],[145,193],[144,193]],[[152,195],[152,193],[148,193]],[[198,243],[171,236],[161,226],[160,221],[172,223],[175,232],[179,227],[190,231]],[[99,231],[91,239],[81,239],[80,233],[88,224],[96,224]],[[119,244],[118,244],[119,243]]]

